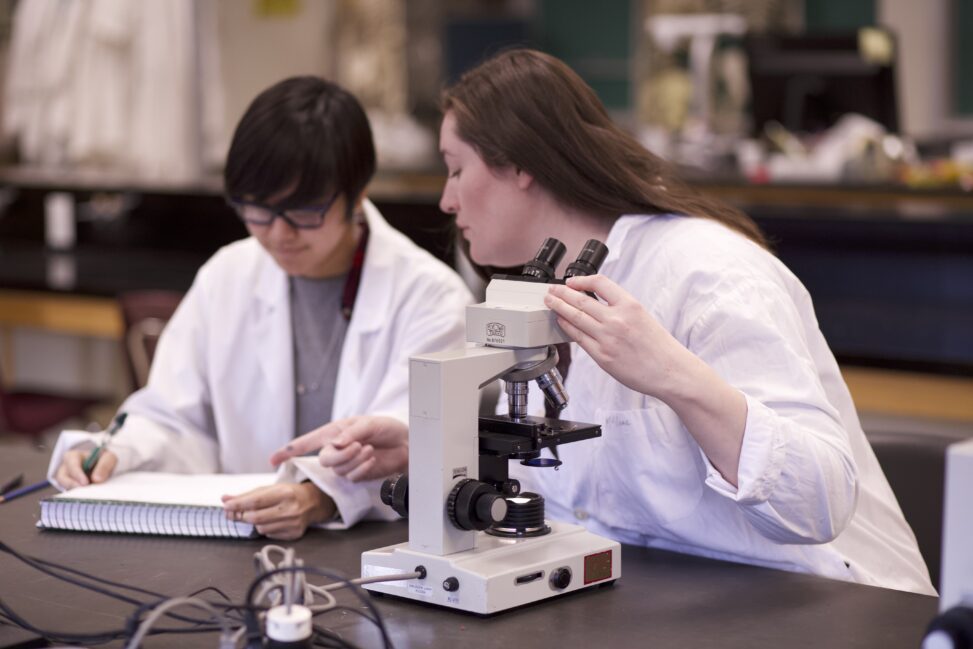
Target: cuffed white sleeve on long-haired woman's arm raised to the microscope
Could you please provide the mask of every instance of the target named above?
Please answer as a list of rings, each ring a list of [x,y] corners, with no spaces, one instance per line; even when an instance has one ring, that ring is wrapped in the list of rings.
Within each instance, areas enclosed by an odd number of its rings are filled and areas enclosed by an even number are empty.
[[[747,418],[737,486],[703,454],[706,484],[738,503],[768,539],[829,542],[854,514],[857,467],[812,360],[810,346],[823,338],[809,340],[794,302],[810,298],[740,278],[713,293],[689,347],[745,395]]]

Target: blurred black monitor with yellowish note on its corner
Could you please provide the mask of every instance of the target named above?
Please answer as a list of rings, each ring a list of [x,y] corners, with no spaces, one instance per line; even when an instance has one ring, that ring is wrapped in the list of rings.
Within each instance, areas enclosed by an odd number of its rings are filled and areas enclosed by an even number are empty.
[[[744,39],[752,132],[772,120],[795,133],[818,133],[846,113],[898,132],[895,39],[868,27],[834,34],[752,34]]]

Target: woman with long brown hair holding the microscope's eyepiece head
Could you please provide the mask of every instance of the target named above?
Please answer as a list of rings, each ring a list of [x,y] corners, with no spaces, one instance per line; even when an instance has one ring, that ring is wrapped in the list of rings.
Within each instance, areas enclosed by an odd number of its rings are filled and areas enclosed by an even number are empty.
[[[564,417],[601,438],[516,477],[552,518],[651,545],[932,593],[810,296],[746,215],[679,183],[568,66],[501,53],[443,99],[456,215],[477,263],[545,237],[601,274],[553,286],[577,343]],[[596,295],[598,299],[590,297]]]

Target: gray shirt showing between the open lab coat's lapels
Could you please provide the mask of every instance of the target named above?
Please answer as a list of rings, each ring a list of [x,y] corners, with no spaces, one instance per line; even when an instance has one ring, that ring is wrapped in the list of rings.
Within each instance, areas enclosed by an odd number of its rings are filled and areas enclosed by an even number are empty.
[[[348,331],[341,313],[346,280],[345,275],[290,278],[297,435],[331,421],[338,361]]]

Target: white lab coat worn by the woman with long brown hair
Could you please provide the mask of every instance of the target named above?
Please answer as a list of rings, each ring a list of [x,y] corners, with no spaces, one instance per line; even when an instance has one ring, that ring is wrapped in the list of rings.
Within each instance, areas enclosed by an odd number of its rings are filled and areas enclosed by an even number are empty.
[[[558,471],[511,472],[549,516],[626,543],[934,594],[798,279],[708,219],[625,216],[606,244],[601,272],[746,396],[739,485],[672,409],[573,345],[562,417],[602,437],[559,447]]]

